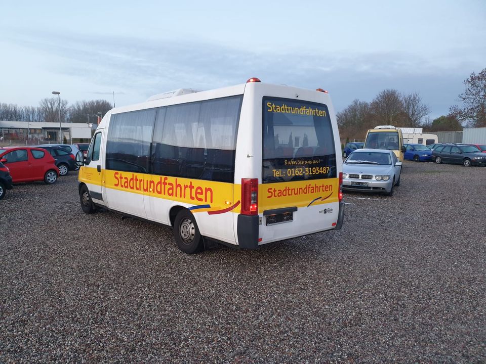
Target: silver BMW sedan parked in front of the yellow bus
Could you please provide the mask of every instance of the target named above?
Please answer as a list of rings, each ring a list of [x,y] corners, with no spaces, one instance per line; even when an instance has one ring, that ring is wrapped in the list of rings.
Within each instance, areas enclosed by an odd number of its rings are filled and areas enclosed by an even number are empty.
[[[376,192],[393,195],[400,186],[402,163],[393,151],[357,149],[343,164],[343,191]]]

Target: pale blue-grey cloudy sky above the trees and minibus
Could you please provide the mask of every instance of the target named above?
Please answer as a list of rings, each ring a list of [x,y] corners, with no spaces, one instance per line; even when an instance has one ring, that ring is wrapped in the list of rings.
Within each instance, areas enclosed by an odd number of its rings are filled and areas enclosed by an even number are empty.
[[[3,4],[0,102],[114,91],[122,106],[255,76],[328,89],[337,111],[384,88],[418,92],[434,118],[486,67],[482,0],[120,3]]]

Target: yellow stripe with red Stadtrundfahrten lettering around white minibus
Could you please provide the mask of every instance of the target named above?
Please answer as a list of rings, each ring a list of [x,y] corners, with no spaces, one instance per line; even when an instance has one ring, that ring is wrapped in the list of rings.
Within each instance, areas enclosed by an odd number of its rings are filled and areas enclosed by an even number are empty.
[[[123,172],[83,166],[79,181],[118,191],[164,198],[193,205],[193,212],[241,210],[241,185],[145,173]],[[339,178],[311,179],[259,185],[258,210],[308,207],[338,202]]]

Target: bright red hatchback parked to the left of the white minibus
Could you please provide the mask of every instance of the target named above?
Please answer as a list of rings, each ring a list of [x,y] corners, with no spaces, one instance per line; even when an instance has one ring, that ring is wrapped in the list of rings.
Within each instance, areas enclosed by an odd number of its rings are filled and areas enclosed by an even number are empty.
[[[2,147],[0,162],[9,168],[13,183],[41,180],[51,185],[59,176],[54,158],[41,148]]]

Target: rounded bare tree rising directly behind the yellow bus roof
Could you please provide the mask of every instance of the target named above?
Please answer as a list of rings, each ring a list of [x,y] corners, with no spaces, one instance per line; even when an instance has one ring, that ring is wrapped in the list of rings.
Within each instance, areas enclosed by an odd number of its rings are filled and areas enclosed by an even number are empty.
[[[403,120],[403,102],[395,89],[384,89],[371,103],[376,124],[401,124]]]

